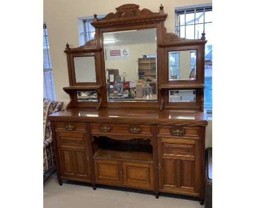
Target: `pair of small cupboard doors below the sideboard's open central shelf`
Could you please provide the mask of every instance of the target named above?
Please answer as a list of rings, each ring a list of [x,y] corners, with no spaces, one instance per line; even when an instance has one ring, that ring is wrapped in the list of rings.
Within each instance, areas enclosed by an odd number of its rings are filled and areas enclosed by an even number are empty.
[[[96,182],[153,188],[153,164],[94,159]]]

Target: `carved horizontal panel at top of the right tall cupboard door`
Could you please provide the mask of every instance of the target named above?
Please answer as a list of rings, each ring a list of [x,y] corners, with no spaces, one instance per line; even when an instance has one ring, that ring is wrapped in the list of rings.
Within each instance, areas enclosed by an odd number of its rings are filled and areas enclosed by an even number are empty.
[[[163,155],[195,156],[195,140],[161,138]]]

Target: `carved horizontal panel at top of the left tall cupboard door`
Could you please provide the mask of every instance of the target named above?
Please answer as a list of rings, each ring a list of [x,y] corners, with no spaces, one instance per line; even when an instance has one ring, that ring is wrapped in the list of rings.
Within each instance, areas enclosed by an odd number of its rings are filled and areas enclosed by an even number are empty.
[[[61,148],[85,148],[84,133],[56,132],[56,138]]]

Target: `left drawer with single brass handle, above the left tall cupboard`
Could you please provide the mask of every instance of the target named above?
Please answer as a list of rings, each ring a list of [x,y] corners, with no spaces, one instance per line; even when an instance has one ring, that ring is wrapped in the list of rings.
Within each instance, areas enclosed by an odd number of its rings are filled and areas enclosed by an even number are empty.
[[[55,131],[87,131],[86,123],[55,122]]]

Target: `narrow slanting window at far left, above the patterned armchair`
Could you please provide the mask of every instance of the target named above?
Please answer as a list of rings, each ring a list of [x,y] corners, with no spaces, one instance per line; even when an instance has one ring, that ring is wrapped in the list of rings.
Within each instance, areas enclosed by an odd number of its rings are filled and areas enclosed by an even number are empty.
[[[56,100],[54,81],[53,81],[53,71],[51,69],[51,59],[49,51],[48,33],[46,25],[43,27],[43,38],[44,38],[44,98]]]

